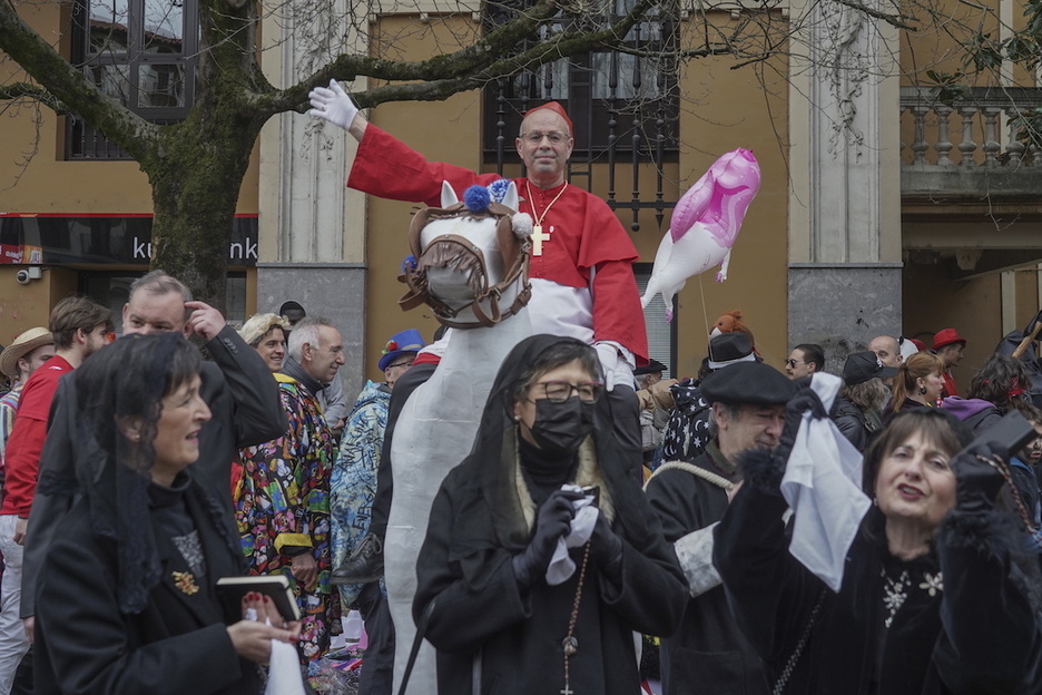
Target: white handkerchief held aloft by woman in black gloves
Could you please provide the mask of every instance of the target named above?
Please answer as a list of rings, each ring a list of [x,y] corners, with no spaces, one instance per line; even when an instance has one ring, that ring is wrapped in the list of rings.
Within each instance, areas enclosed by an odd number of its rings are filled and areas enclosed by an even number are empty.
[[[829,410],[842,384],[820,373],[810,388]],[[843,584],[846,554],[871,506],[861,469],[861,452],[832,420],[804,413],[782,478],[782,495],[796,515],[789,552],[833,591]]]

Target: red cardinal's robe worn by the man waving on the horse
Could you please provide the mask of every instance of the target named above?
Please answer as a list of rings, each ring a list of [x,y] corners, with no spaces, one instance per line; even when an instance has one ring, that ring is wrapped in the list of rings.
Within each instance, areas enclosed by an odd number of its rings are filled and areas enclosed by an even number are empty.
[[[427,161],[368,124],[347,186],[381,198],[440,206],[443,180],[462,199],[469,186],[486,186],[498,178]],[[543,190],[527,178],[514,184],[520,212],[541,221],[543,233],[550,234],[542,255],[531,258],[533,330],[588,343],[611,341],[629,350],[638,365],[647,364],[648,335],[632,271],[639,256],[618,217],[602,199],[577,186]]]

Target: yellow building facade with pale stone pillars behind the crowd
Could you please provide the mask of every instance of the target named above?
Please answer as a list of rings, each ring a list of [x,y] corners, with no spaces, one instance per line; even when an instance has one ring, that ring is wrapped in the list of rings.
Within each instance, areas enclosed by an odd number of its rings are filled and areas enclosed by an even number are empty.
[[[1016,26],[1012,3],[993,4],[995,17]],[[68,26],[62,6],[21,10],[43,36]],[[346,48],[420,60],[481,30],[480,16],[469,9],[445,13],[444,6],[421,3],[370,10],[367,33],[347,35]],[[767,13],[740,3],[718,4],[707,14],[681,8],[677,35],[685,49],[697,50],[702,19],[725,35],[749,22],[751,11],[758,13],[756,22],[771,23],[770,36],[798,31],[776,55],[737,70],[731,69],[736,59],[722,56],[680,67],[679,145],[661,164],[661,184],[649,163],[638,167],[636,184],[629,163],[616,164],[613,197],[627,228],[633,223],[631,197],[675,202],[726,151],[751,149],[761,168],[760,192],[734,246],[727,281],[714,282],[715,271],[689,280],[672,326],[652,315],[660,310],[649,309],[659,345],[655,356],[675,375],[694,375],[706,354],[709,324],[738,309],[759,353],[779,369],[797,342],[824,344],[830,371],[838,372],[846,352],[876,334],[956,327],[969,340],[956,379],[969,383],[969,365],[980,364],[1005,331],[1039,311],[1034,256],[1042,258],[1036,233],[1042,209],[1029,185],[1002,170],[1005,164],[991,166],[984,157],[991,140],[983,104],[972,114],[956,105],[938,116],[915,101],[913,86],[923,82],[926,69],[959,60],[950,40],[934,31],[908,38],[849,13],[792,22],[814,11],[809,3],[778,4]],[[276,86],[293,82],[302,70],[301,49],[284,31],[282,22],[269,19],[259,33],[262,65]],[[70,55],[68,41],[58,45]],[[823,57],[829,50],[848,55],[830,61]],[[6,70],[0,80],[18,78],[10,61],[0,68]],[[1013,71],[1009,81],[1024,85],[1028,78]],[[356,80],[353,88],[366,86]],[[483,147],[488,108],[480,92],[468,91],[444,101],[384,104],[370,119],[431,160],[494,172]],[[1009,116],[1000,116],[992,138],[997,149],[987,151],[1009,163]],[[942,118],[950,121],[951,167],[937,159]],[[147,268],[141,221],[151,203],[144,174],[132,161],[70,157],[66,121],[30,107],[2,116],[0,244],[4,251],[21,247],[0,264],[3,344],[46,324],[49,307],[70,292],[86,292],[118,310],[129,281]],[[962,139],[965,123],[969,140]],[[961,164],[965,147],[960,147],[971,140],[976,147],[967,156],[979,166]],[[351,355],[343,370],[348,390],[366,378],[382,380],[376,362],[393,334],[415,327],[430,339],[436,327],[430,311],[397,307],[404,285],[396,278],[409,253],[415,205],[344,189],[353,148],[343,134],[316,134],[307,116],[272,118],[242,186],[228,251],[229,316],[274,311],[285,300],[299,301],[309,314],[330,315]],[[1030,154],[1025,150],[1024,159],[1033,168]],[[509,163],[503,170],[519,172]],[[974,198],[974,182],[995,183],[1000,175],[1005,188],[992,190],[989,199],[982,200],[981,192]],[[608,165],[598,160],[573,184],[608,198],[609,180]],[[638,213],[631,238],[645,274],[669,212],[661,224],[651,208]],[[33,258],[29,254],[37,247],[42,256]],[[39,266],[41,277],[21,284],[17,272],[27,265]]]

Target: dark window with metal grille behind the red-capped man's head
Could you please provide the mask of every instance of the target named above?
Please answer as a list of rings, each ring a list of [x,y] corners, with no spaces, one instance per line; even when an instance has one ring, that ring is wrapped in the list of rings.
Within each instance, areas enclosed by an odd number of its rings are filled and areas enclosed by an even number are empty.
[[[576,22],[583,29],[617,21],[635,0],[612,0],[610,14],[569,17],[563,13],[540,28],[551,39]],[[532,0],[485,3],[485,26],[512,19]],[[676,11],[663,3],[652,9],[626,37],[632,52],[587,52],[524,70],[484,90],[483,146],[488,164],[517,163],[514,138],[524,111],[547,100],[560,101],[574,124],[573,160],[676,161],[679,95],[677,89]]]

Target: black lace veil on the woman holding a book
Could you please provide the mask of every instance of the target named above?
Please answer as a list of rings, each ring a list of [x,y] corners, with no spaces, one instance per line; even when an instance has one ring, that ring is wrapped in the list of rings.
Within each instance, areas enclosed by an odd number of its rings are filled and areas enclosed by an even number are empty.
[[[201,366],[198,350],[180,333],[161,333],[125,335],[76,371],[76,437],[102,453],[101,460],[77,457],[76,478],[94,532],[116,542],[117,594],[127,614],[145,608],[160,578],[148,487],[163,399]]]

